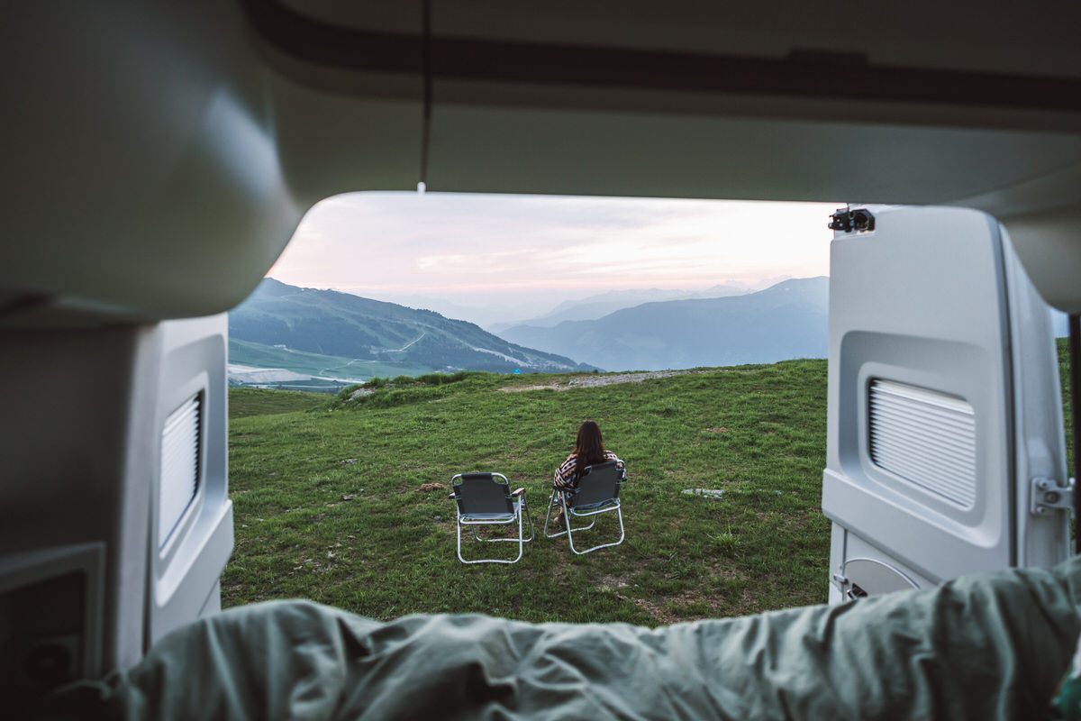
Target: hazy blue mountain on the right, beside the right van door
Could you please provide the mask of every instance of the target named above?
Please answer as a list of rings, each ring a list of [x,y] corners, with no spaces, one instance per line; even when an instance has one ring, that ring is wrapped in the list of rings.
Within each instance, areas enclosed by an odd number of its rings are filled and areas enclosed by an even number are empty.
[[[746,295],[645,303],[555,328],[517,325],[501,335],[610,371],[772,363],[826,356],[828,302],[828,278],[802,278]]]

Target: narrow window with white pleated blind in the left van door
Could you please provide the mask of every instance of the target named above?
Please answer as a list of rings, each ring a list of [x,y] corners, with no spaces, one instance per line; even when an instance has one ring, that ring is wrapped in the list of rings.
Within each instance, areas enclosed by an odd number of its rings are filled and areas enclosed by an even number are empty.
[[[161,485],[158,489],[158,547],[165,545],[199,491],[199,431],[202,393],[173,411],[161,430]]]

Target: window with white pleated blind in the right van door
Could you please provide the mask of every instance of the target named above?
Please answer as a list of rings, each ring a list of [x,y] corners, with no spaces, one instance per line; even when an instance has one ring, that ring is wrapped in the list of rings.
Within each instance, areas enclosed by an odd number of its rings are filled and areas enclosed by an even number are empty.
[[[976,500],[976,417],[959,398],[892,380],[871,382],[869,455],[924,491],[971,507]]]

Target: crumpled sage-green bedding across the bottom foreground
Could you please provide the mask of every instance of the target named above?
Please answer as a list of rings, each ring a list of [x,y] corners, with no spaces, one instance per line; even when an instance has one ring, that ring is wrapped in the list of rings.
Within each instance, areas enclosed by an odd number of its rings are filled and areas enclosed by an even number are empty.
[[[1038,719],[1079,602],[1081,560],[656,629],[276,601],[179,629],[41,716]]]

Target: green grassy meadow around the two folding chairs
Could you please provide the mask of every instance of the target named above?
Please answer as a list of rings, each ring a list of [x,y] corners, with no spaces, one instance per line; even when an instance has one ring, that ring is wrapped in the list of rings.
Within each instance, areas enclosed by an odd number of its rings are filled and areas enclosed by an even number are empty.
[[[232,391],[225,604],[304,597],[376,618],[657,625],[826,599],[825,361],[503,391],[568,380],[475,374],[322,410],[311,408],[325,397]],[[627,542],[574,557],[539,531],[552,470],[584,418],[627,462]],[[475,469],[528,489],[538,537],[517,565],[459,564],[449,490],[422,488]],[[681,493],[694,488],[724,495]],[[609,518],[590,533],[615,532]]]

